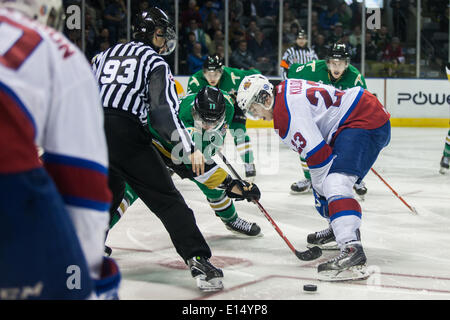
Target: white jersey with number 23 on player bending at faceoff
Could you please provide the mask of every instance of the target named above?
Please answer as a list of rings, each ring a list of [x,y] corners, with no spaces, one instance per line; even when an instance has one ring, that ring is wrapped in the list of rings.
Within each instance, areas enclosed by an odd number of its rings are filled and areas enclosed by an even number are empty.
[[[339,90],[291,79],[280,83],[275,94],[274,128],[285,144],[306,159],[319,193],[339,132],[345,128],[376,129],[390,117],[378,99],[361,87]]]

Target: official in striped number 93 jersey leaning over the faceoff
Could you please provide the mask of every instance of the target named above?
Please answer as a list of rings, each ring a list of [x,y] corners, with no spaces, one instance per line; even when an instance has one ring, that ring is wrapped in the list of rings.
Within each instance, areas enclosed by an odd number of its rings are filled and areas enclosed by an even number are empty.
[[[133,37],[134,41],[109,48],[93,61],[105,114],[113,193],[110,215],[119,207],[128,183],[162,221],[199,288],[220,290],[222,270],[208,261],[210,248],[152,146],[147,126],[150,121],[162,139],[180,145],[193,171],[204,173],[205,159],[178,117],[174,79],[161,57],[176,47],[173,25],[162,10],[151,8],[138,17]]]

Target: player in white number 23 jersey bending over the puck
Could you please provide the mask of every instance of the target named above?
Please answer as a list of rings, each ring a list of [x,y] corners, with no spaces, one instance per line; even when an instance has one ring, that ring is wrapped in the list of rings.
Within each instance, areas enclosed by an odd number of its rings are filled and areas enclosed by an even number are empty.
[[[368,277],[361,244],[362,210],[352,187],[390,141],[390,115],[369,91],[339,90],[306,80],[287,80],[275,89],[261,75],[246,77],[238,91],[242,110],[274,121],[282,141],[303,156],[311,170],[316,209],[329,229],[308,236],[335,238],[340,254],[318,266],[319,279]]]

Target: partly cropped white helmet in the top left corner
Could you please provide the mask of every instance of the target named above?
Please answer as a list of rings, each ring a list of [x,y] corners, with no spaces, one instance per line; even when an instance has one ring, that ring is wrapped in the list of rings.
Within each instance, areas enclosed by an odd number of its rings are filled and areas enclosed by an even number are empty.
[[[62,0],[0,0],[1,7],[18,10],[44,25],[62,30]]]

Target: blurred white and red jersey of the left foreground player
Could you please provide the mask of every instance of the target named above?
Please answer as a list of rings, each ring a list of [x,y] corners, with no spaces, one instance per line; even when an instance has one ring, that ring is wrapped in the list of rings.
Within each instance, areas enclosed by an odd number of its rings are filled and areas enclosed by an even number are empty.
[[[0,9],[0,39],[0,174],[45,166],[98,278],[111,193],[97,82],[69,40],[17,11]]]

